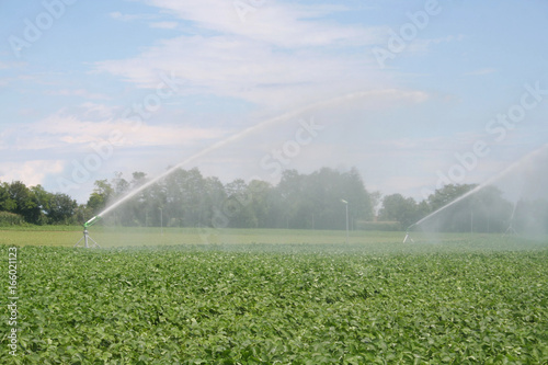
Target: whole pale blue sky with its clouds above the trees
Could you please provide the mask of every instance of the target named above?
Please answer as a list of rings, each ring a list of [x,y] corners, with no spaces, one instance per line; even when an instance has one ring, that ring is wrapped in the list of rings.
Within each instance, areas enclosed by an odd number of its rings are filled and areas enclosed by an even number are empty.
[[[0,13],[0,181],[81,203],[95,180],[193,156],[187,168],[224,182],[356,167],[368,190],[422,199],[547,141],[543,0],[44,0]]]

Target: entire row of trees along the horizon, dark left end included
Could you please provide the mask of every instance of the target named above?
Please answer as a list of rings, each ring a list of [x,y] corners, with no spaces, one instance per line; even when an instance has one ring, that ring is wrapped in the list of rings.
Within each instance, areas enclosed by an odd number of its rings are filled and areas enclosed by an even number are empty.
[[[147,181],[144,172],[134,172],[129,180],[116,173],[111,180],[95,181],[88,202],[80,205],[67,194],[49,193],[41,185],[3,182],[0,224],[2,219],[13,224],[19,221],[13,217],[20,217],[33,225],[81,225]],[[116,226],[344,229],[347,208],[351,229],[401,230],[476,186],[445,185],[416,202],[401,194],[381,196],[367,191],[355,168],[346,172],[322,168],[310,174],[285,170],[276,185],[242,179],[224,184],[196,168],[179,169],[103,218]],[[535,214],[533,223],[530,212]],[[548,202],[515,205],[504,199],[499,189],[487,186],[426,220],[423,227],[500,232],[511,226],[532,229],[532,225],[548,227]]]

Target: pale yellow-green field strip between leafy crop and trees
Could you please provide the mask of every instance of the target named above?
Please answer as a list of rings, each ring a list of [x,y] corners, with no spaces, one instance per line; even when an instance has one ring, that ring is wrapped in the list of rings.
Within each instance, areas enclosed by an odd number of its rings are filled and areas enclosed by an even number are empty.
[[[213,228],[146,228],[146,227],[91,227],[90,237],[102,248],[121,247],[153,247],[180,244],[345,244],[344,230],[307,230],[307,229],[213,229]],[[400,247],[406,237],[400,231],[350,231],[350,244],[387,244]],[[498,247],[510,242],[512,247],[516,238],[504,238],[500,233],[425,233],[412,232],[411,237],[418,243],[447,243],[464,240],[473,246],[483,246],[498,241]],[[48,226],[39,229],[0,229],[0,244],[4,246],[52,246],[73,247],[82,238],[81,227]],[[525,246],[543,244],[543,240],[523,240]],[[535,243],[536,242],[536,243]],[[378,248],[378,247],[377,247]]]

